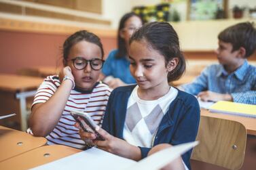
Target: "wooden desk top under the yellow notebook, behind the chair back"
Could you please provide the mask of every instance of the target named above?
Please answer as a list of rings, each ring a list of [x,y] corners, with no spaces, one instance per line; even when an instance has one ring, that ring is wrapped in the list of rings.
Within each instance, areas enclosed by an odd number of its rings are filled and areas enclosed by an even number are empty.
[[[256,119],[244,117],[244,116],[235,116],[231,114],[221,114],[221,113],[213,113],[209,112],[208,110],[201,109],[202,116],[211,116],[217,117],[221,119],[229,119],[232,121],[240,122],[244,125],[249,135],[256,135]]]

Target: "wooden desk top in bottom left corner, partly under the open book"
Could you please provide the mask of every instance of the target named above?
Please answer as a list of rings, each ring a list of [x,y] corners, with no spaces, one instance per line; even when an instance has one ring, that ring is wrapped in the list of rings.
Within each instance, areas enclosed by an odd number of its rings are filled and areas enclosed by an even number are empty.
[[[0,169],[31,169],[82,150],[62,145],[42,146],[0,163]]]

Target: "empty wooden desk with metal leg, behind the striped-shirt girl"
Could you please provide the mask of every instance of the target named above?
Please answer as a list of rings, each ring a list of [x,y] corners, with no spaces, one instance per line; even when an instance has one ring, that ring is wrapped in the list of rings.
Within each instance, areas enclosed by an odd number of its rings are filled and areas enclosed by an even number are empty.
[[[0,79],[0,115],[16,112],[17,116],[10,119],[19,122],[20,129],[25,131],[28,113],[26,98],[35,95],[36,89],[43,82],[43,79],[2,73],[0,73]]]

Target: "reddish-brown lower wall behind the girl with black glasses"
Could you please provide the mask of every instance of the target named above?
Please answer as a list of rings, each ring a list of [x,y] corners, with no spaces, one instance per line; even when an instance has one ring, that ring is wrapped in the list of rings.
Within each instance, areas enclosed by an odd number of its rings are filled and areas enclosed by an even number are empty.
[[[0,30],[0,72],[16,73],[31,66],[62,66],[61,47],[68,35]],[[100,37],[105,56],[116,47],[115,37]]]

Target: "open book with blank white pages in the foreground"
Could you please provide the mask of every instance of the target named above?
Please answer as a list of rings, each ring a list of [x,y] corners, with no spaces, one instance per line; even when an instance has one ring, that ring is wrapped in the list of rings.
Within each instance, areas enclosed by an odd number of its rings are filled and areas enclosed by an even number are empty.
[[[172,146],[171,148],[166,148],[160,152],[156,152],[139,162],[111,154],[98,148],[90,148],[89,150],[84,150],[83,152],[61,158],[52,163],[41,165],[33,169],[156,170],[164,167],[196,145],[198,145],[198,142],[188,142]]]

